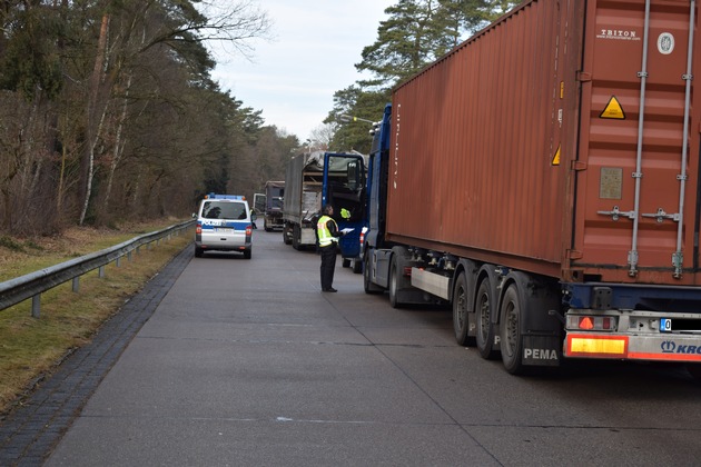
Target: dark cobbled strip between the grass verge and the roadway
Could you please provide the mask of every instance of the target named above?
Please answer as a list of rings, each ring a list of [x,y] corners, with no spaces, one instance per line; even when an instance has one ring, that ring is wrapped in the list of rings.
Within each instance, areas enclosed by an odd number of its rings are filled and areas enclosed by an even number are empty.
[[[21,407],[0,419],[0,466],[42,464],[191,258],[191,248],[182,250],[105,324],[91,344],[70,355]]]

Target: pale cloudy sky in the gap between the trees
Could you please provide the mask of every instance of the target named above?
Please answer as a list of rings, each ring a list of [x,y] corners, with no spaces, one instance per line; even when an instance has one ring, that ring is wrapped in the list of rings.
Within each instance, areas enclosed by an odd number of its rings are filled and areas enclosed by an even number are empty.
[[[253,58],[230,48],[214,50],[214,80],[223,90],[261,110],[265,125],[275,125],[300,141],[334,106],[334,92],[355,81],[363,48],[377,39],[384,10],[397,0],[253,0],[273,21],[273,40],[255,40]]]

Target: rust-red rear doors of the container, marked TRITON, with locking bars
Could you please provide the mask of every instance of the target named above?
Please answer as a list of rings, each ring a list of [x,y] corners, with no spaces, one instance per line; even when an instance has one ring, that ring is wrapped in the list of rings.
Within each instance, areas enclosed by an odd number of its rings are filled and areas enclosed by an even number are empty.
[[[701,96],[691,95],[692,81],[690,106],[685,99],[685,76],[701,76],[701,37],[689,43],[692,7],[669,0],[652,1],[648,13],[642,1],[588,7],[574,278],[699,284]]]

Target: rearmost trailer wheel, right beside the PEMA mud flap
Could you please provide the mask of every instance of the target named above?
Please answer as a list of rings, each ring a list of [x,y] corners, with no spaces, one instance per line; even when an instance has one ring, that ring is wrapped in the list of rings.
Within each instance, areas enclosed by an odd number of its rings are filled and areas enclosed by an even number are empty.
[[[519,288],[512,284],[504,292],[500,314],[500,345],[504,368],[512,375],[520,375],[523,366],[523,336],[521,335],[521,310]]]

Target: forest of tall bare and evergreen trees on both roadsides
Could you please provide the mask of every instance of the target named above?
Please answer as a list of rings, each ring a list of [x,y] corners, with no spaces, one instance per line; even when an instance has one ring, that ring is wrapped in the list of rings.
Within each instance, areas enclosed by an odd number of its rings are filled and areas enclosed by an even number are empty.
[[[397,1],[358,51],[374,78],[334,95],[315,143],[369,150],[339,116],[376,118],[393,86],[513,4]],[[253,0],[0,0],[0,236],[182,218],[207,192],[284,179],[303,150],[211,78],[208,43],[246,54],[271,32]]]

